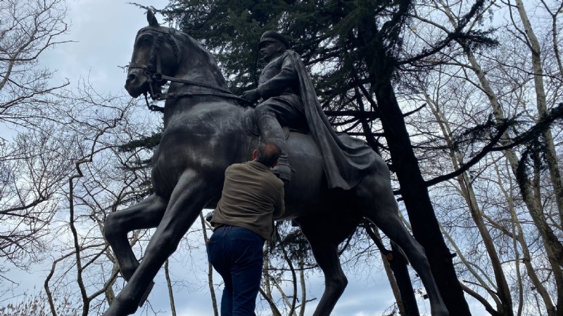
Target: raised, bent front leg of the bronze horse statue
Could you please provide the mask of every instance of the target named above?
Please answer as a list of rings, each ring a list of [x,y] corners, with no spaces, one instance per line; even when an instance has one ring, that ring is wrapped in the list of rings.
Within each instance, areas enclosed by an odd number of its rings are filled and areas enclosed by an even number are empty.
[[[103,237],[110,244],[118,261],[121,275],[129,281],[139,261],[135,258],[127,233],[132,230],[155,228],[163,218],[167,201],[151,195],[127,209],[110,213],[103,225]]]

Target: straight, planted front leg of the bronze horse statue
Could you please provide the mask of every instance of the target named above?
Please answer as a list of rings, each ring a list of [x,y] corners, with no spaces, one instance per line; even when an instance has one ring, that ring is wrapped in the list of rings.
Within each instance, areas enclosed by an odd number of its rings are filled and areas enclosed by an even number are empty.
[[[210,190],[211,189],[211,190]],[[104,316],[130,315],[160,267],[176,250],[180,240],[194,223],[214,191],[205,185],[203,176],[196,171],[185,171],[172,192],[166,211],[148,242],[145,255],[129,282],[115,297]]]

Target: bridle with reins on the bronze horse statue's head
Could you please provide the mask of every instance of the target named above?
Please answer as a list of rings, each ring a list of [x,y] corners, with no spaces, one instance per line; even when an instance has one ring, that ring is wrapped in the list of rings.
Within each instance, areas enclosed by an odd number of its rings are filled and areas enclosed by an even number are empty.
[[[148,94],[151,96],[152,100],[168,100],[168,99],[174,99],[174,98],[183,98],[186,96],[221,96],[224,98],[232,98],[235,100],[238,100],[240,103],[251,103],[250,101],[241,98],[239,96],[236,96],[234,93],[232,93],[228,88],[223,88],[221,86],[217,86],[215,84],[210,84],[208,82],[203,82],[203,81],[194,81],[194,80],[189,80],[189,79],[182,79],[182,78],[175,78],[175,77],[170,77],[170,76],[166,76],[165,74],[162,74],[162,62],[161,62],[161,58],[160,58],[160,47],[162,46],[163,40],[165,39],[165,37],[167,38],[168,41],[170,41],[170,44],[172,45],[172,49],[174,50],[174,55],[176,58],[176,63],[179,63],[180,60],[180,56],[179,56],[179,48],[178,48],[178,44],[176,43],[176,40],[174,38],[174,34],[175,32],[177,32],[175,29],[171,28],[171,27],[153,27],[153,26],[148,26],[148,27],[144,27],[142,29],[139,30],[139,32],[137,33],[137,37],[139,37],[139,33],[146,31],[147,29],[150,29],[154,32],[158,32],[158,37],[156,38],[155,41],[153,41],[153,46],[151,48],[151,57],[148,58],[148,63],[146,65],[144,64],[136,64],[136,63],[129,63],[129,68],[139,68],[144,70],[144,75],[146,76],[146,81],[148,83]],[[171,81],[171,82],[178,82],[180,84],[189,84],[192,86],[201,86],[204,88],[211,88],[214,91],[213,92],[172,92],[172,93],[161,93],[160,92],[160,86],[162,86],[163,84],[166,83],[166,81]],[[155,86],[155,84],[157,84],[158,86]],[[157,90],[158,87],[158,90]],[[147,91],[145,91],[143,93],[145,100],[146,100],[146,106],[148,107],[148,110],[151,111],[158,111],[158,112],[164,112],[164,107],[159,107],[158,105],[151,105],[148,103],[148,96],[147,96]]]

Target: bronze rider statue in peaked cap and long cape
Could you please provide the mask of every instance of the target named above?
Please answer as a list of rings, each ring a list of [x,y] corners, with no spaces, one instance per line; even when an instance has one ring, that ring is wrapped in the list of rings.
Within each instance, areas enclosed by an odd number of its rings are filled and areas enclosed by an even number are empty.
[[[281,125],[307,129],[323,157],[324,173],[330,188],[355,187],[374,166],[374,154],[362,140],[337,136],[322,112],[315,88],[298,53],[289,50],[281,34],[266,31],[258,44],[267,65],[258,79],[258,88],[245,91],[243,98],[262,101],[254,111],[264,141],[278,145],[281,155],[272,170],[285,183],[291,180],[291,166]]]

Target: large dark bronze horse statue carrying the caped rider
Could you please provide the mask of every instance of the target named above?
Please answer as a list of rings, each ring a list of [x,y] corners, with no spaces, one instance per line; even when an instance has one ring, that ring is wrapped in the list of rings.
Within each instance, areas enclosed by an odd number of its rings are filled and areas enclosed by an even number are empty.
[[[136,98],[147,91],[167,98],[164,131],[153,154],[154,194],[139,204],[110,213],[104,237],[110,244],[127,284],[103,315],[134,313],[153,277],[177,248],[180,239],[205,207],[220,196],[224,170],[250,160],[258,136],[249,133],[245,113],[215,63],[215,58],[188,35],[158,25],[147,13],[148,26],[137,32],[125,88]],[[167,94],[158,95],[165,80]],[[376,155],[377,166],[351,190],[329,190],[322,157],[312,138],[291,133],[289,159],[295,169],[286,189],[286,213],[310,243],[324,272],[324,294],[315,316],[330,315],[348,283],[339,262],[338,246],[362,218],[371,220],[405,252],[422,279],[434,316],[448,310],[436,288],[422,246],[398,217],[388,168]],[[127,232],[156,228],[139,263]]]

